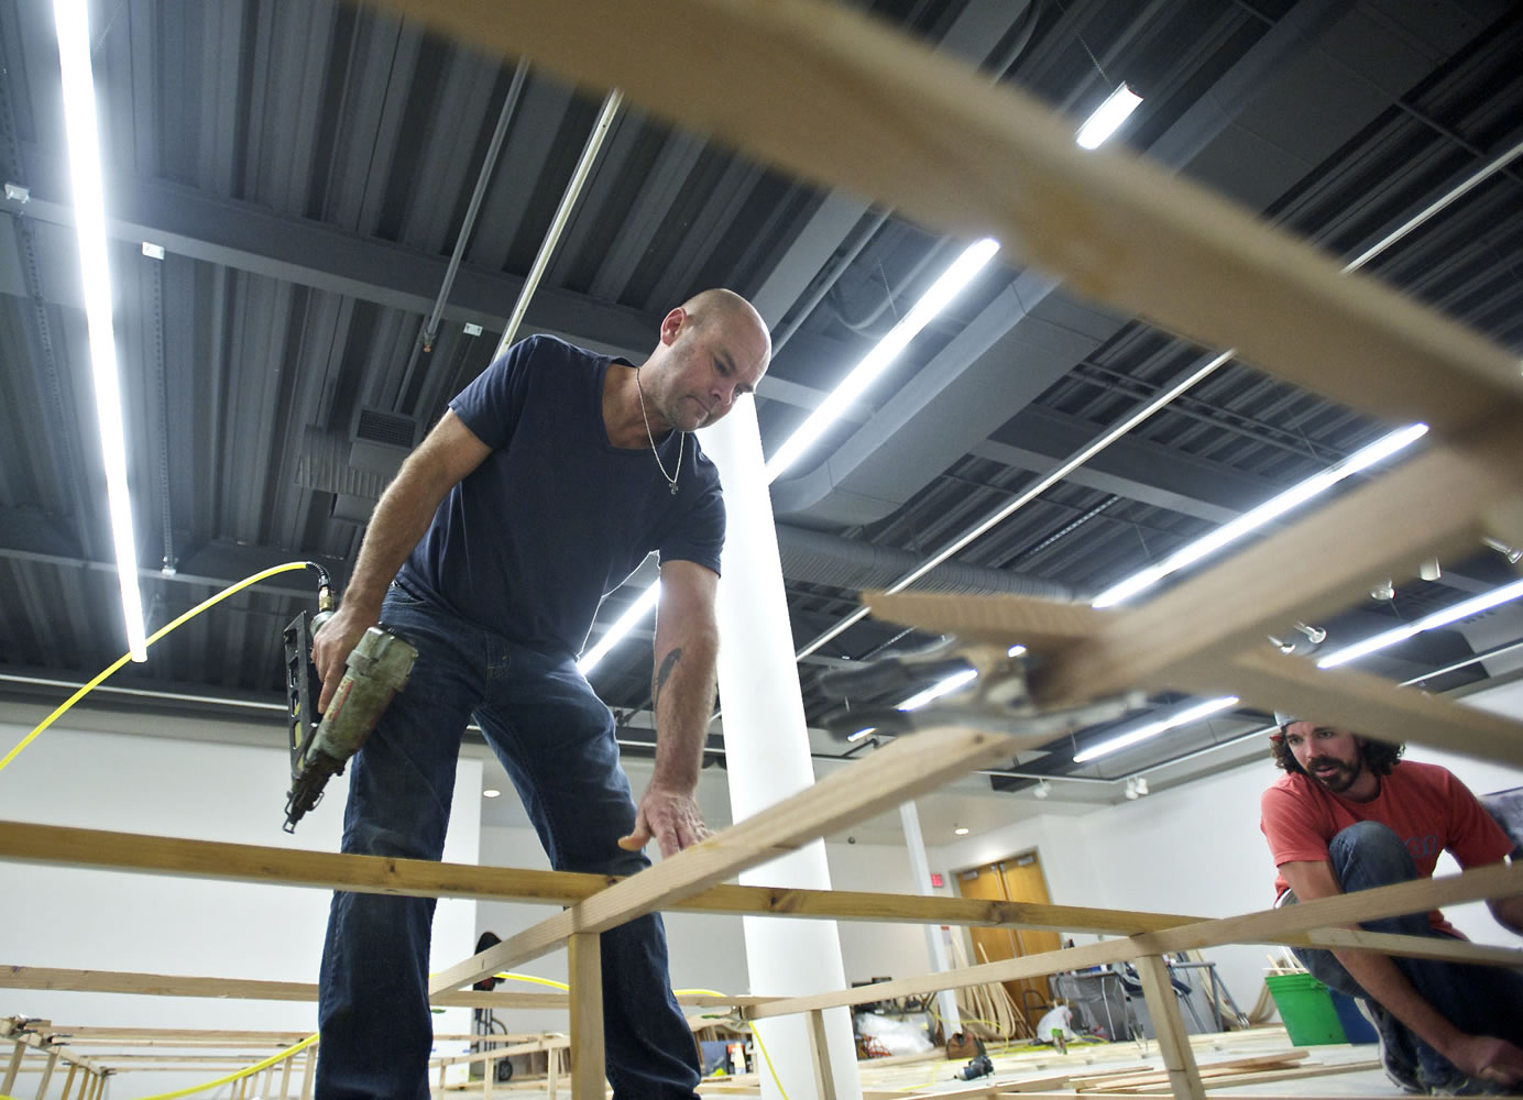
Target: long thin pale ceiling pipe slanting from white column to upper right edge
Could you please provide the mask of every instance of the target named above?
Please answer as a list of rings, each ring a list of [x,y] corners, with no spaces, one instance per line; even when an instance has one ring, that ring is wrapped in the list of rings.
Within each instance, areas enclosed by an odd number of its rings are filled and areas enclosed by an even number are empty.
[[[1483,180],[1488,180],[1493,175],[1496,175],[1496,172],[1499,172],[1502,167],[1505,167],[1506,164],[1509,164],[1514,158],[1517,158],[1520,155],[1520,152],[1523,152],[1523,141],[1520,141],[1518,145],[1512,146],[1511,149],[1508,149],[1502,155],[1494,157],[1491,161],[1488,161],[1486,164],[1483,164],[1482,167],[1479,167],[1476,172],[1470,173],[1465,180],[1462,180],[1458,184],[1454,184],[1453,187],[1450,187],[1444,195],[1441,195],[1436,199],[1433,199],[1432,202],[1429,202],[1416,215],[1413,215],[1412,218],[1409,218],[1407,221],[1404,221],[1401,225],[1398,225],[1395,230],[1392,230],[1390,233],[1387,233],[1378,242],[1375,242],[1374,245],[1371,245],[1369,248],[1366,248],[1363,253],[1360,253],[1359,256],[1355,256],[1352,260],[1349,260],[1346,265],[1343,265],[1343,271],[1345,272],[1348,272],[1348,271],[1359,271],[1360,268],[1363,268],[1372,259],[1375,259],[1377,256],[1380,256],[1381,253],[1384,253],[1387,248],[1390,248],[1390,245],[1394,245],[1398,240],[1404,239],[1413,230],[1416,230],[1418,227],[1421,227],[1426,222],[1429,222],[1439,211],[1442,211],[1442,210],[1448,208],[1450,205],[1453,205],[1456,201],[1459,201],[1459,198],[1462,198],[1471,189],[1474,189],[1477,183],[1480,183]],[[1138,408],[1130,417],[1127,417],[1121,423],[1118,423],[1118,424],[1112,426],[1110,429],[1107,429],[1100,438],[1097,438],[1089,446],[1086,446],[1086,447],[1074,452],[1072,455],[1069,455],[1057,467],[1054,467],[1052,470],[1049,470],[1048,473],[1045,473],[1042,478],[1037,478],[1037,481],[1034,481],[1030,487],[1027,487],[1027,490],[1022,491],[1019,496],[1016,496],[1013,501],[1010,501],[1008,504],[1002,505],[995,513],[991,513],[990,516],[985,516],[982,520],[979,520],[978,523],[975,523],[973,526],[970,526],[961,536],[958,536],[950,543],[947,543],[940,551],[937,551],[929,558],[926,558],[920,566],[917,566],[911,572],[905,574],[899,581],[896,581],[886,590],[888,592],[900,592],[900,590],[909,587],[911,584],[914,584],[917,580],[920,580],[931,569],[934,569],[938,564],[941,564],[943,561],[946,561],[949,557],[952,557],[953,554],[956,554],[959,549],[963,549],[969,543],[972,543],[976,539],[982,537],[985,533],[988,533],[990,529],[993,529],[995,526],[998,526],[999,523],[1002,523],[1005,519],[1008,519],[1010,516],[1013,516],[1014,513],[1017,513],[1020,508],[1023,508],[1031,501],[1034,501],[1039,494],[1045,493],[1048,488],[1051,488],[1052,485],[1055,485],[1058,481],[1062,481],[1063,478],[1066,478],[1069,473],[1072,473],[1074,470],[1077,470],[1080,466],[1083,466],[1084,463],[1087,463],[1090,458],[1094,458],[1095,455],[1098,455],[1101,450],[1104,450],[1106,447],[1109,447],[1112,443],[1115,443],[1116,440],[1119,440],[1122,435],[1125,435],[1127,432],[1130,432],[1133,428],[1136,428],[1138,424],[1141,424],[1144,420],[1150,418],[1159,409],[1162,409],[1167,405],[1173,403],[1173,400],[1176,397],[1179,397],[1180,394],[1183,394],[1186,389],[1194,388],[1194,385],[1199,383],[1202,379],[1214,374],[1218,368],[1221,368],[1226,362],[1229,362],[1234,354],[1237,354],[1237,348],[1228,348],[1226,351],[1221,351],[1221,353],[1212,356],[1211,359],[1205,361],[1203,364],[1199,364],[1197,367],[1185,371],[1168,389],[1165,389],[1164,393],[1161,393],[1151,402],[1147,402],[1145,405],[1142,405],[1141,408]],[[821,633],[816,637],[813,637],[807,645],[804,645],[804,648],[801,648],[795,654],[795,657],[798,657],[798,659],[807,657],[810,653],[813,653],[815,650],[818,650],[821,645],[824,645],[825,642],[829,642],[832,637],[836,637],[838,634],[841,634],[844,630],[847,630],[853,624],[860,622],[867,616],[867,613],[868,612],[867,612],[865,607],[859,609],[857,612],[853,612],[845,619],[842,619],[841,622],[838,622],[835,627],[830,627],[824,633]]]

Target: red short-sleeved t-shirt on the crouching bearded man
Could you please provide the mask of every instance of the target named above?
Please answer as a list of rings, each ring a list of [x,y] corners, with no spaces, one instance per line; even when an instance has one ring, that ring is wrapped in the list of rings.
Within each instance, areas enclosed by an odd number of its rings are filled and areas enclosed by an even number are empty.
[[[1432,878],[1439,852],[1448,850],[1461,867],[1499,863],[1512,841],[1462,782],[1436,764],[1401,761],[1381,776],[1380,793],[1369,802],[1333,794],[1310,776],[1284,774],[1264,791],[1260,828],[1269,840],[1275,866],[1328,860],[1328,843],[1354,822],[1380,822],[1401,837],[1418,876]],[[1275,875],[1275,896],[1287,890]],[[1429,914],[1433,927],[1458,936],[1444,914]]]

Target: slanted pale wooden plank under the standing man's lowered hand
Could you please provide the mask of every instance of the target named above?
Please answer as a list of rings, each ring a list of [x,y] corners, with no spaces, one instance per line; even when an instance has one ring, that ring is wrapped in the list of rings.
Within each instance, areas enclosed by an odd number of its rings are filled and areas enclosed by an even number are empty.
[[[602,933],[670,905],[748,867],[897,806],[921,791],[935,790],[973,768],[1008,759],[1033,739],[1037,738],[955,727],[899,738],[860,764],[838,770],[702,844],[451,966],[429,978],[428,987],[431,992],[457,989],[553,951],[573,933]]]

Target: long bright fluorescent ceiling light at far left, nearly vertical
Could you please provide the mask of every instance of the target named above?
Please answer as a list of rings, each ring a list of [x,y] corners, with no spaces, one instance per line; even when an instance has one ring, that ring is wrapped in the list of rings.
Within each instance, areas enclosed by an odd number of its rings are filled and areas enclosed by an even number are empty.
[[[133,498],[126,488],[126,437],[122,429],[122,389],[116,367],[116,332],[111,327],[111,272],[105,259],[105,195],[101,148],[96,137],[94,76],[90,72],[90,20],[85,0],[53,0],[58,62],[64,82],[64,126],[69,132],[69,172],[75,192],[75,231],[84,274],[85,321],[90,330],[90,371],[94,376],[96,421],[105,459],[107,505],[116,575],[122,587],[122,615],[133,660],[148,660],[143,601],[137,590],[137,542],[133,537]]]

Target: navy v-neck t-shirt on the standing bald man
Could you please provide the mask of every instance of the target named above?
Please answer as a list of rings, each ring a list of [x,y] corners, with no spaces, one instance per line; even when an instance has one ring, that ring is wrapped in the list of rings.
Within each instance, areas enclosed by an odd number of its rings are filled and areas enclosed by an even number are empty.
[[[492,453],[439,505],[398,580],[525,645],[577,653],[603,595],[656,551],[719,572],[719,472],[687,438],[673,494],[650,447],[603,424],[611,356],[530,336],[449,402]],[[676,469],[681,435],[661,441]]]

